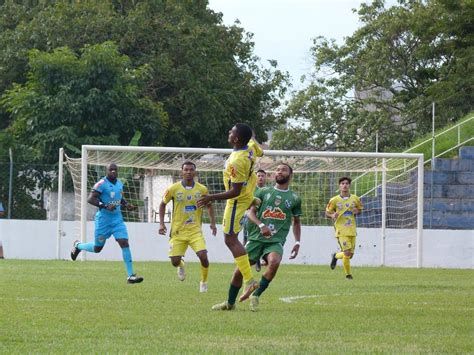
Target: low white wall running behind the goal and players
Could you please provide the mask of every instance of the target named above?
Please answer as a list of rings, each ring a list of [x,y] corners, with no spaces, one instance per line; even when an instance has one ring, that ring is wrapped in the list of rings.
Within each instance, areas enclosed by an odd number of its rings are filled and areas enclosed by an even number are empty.
[[[137,261],[168,260],[168,238],[158,236],[156,223],[127,223],[132,256]],[[220,226],[218,226],[220,227]],[[62,259],[69,259],[73,241],[77,239],[79,223],[63,222],[60,241]],[[88,222],[88,240],[94,233],[93,222]],[[169,228],[168,228],[169,229]],[[10,259],[55,259],[57,224],[55,221],[0,220],[0,240],[4,254]],[[222,232],[216,237],[204,225],[206,242],[211,262],[233,262],[230,251],[224,244]],[[288,260],[293,246],[290,233],[285,245],[284,263],[326,265],[337,243],[332,227],[303,227],[300,255]],[[359,229],[355,256],[351,263],[377,266],[381,264],[381,238],[378,229]],[[414,231],[388,230],[385,242],[385,265],[416,266],[416,234]],[[473,230],[424,230],[422,241],[423,267],[474,268]],[[87,253],[88,260],[121,260],[122,254],[113,238],[100,254]],[[197,261],[191,249],[186,260]]]

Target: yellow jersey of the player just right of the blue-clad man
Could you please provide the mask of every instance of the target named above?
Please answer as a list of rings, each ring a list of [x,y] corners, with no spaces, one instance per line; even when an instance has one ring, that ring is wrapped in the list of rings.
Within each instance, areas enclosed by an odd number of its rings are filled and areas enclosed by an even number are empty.
[[[194,182],[193,186],[184,186],[183,181],[179,181],[166,189],[163,203],[173,201],[171,236],[201,232],[202,208],[197,207],[196,201],[208,193],[207,187],[198,182]]]

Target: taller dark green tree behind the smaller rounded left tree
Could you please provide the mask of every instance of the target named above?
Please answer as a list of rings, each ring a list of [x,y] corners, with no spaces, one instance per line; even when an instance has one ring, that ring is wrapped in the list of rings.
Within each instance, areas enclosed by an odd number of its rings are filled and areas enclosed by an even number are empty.
[[[12,15],[0,15],[0,95],[26,82],[31,49],[79,55],[113,41],[132,69],[146,65],[145,96],[169,117],[166,136],[151,144],[226,147],[235,122],[250,123],[261,140],[278,122],[287,75],[276,63],[263,69],[251,35],[224,26],[207,1],[5,2],[0,14]],[[0,112],[0,128],[12,124]]]

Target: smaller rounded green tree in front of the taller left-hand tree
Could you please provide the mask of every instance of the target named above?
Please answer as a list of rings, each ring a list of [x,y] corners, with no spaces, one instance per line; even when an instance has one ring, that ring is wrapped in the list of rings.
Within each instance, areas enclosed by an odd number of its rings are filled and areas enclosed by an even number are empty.
[[[147,67],[131,69],[114,43],[84,47],[80,57],[67,47],[32,50],[29,68],[1,104],[31,161],[55,163],[64,145],[126,145],[135,131],[145,144],[162,139],[167,115],[142,94]]]

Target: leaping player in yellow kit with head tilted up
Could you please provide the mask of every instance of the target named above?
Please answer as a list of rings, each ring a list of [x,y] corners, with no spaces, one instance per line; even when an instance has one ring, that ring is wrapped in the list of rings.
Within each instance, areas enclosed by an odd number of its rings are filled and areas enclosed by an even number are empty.
[[[215,200],[227,200],[222,228],[225,244],[232,252],[238,269],[242,273],[245,289],[240,301],[249,298],[258,288],[254,280],[247,252],[238,239],[238,234],[244,222],[245,211],[252,205],[257,176],[254,172],[257,157],[263,155],[258,143],[252,138],[252,128],[244,123],[237,123],[229,131],[228,141],[234,148],[225,163],[224,187],[225,192],[206,195],[198,201],[198,207],[206,206]]]

